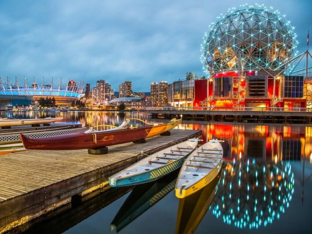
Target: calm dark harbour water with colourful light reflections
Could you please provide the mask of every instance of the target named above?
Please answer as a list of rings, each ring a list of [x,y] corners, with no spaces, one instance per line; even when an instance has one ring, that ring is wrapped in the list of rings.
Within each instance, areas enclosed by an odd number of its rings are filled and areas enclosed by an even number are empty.
[[[84,126],[117,125],[131,117],[164,121],[142,112],[2,112],[2,116],[61,116],[66,123]],[[183,121],[178,128],[202,130],[204,141],[225,141],[223,170],[206,188],[179,200],[173,190],[174,172],[154,183],[110,189],[31,232],[311,232],[311,126]]]

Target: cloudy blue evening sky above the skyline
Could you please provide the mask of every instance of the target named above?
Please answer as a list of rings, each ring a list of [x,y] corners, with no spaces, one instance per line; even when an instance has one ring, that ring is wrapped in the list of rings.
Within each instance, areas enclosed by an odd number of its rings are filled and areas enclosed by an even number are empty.
[[[204,74],[200,45],[209,24],[228,8],[264,4],[295,27],[299,53],[312,44],[311,0],[1,0],[0,76],[76,79],[135,92],[152,82]],[[39,82],[38,82],[39,83]],[[41,82],[40,82],[41,83]]]

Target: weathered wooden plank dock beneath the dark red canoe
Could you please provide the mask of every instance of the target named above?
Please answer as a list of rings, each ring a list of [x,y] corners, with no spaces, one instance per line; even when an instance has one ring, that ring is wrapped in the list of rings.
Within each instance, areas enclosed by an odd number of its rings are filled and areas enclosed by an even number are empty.
[[[0,155],[1,227],[33,215],[85,190],[98,186],[116,172],[166,147],[202,135],[201,131],[173,129],[171,136],[154,136],[145,144],[109,146],[106,155],[87,150],[27,150]]]

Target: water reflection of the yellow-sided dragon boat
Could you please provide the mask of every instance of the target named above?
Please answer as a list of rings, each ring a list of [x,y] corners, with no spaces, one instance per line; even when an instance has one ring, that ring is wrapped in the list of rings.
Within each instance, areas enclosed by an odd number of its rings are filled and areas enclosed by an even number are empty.
[[[202,221],[221,185],[221,171],[205,188],[179,199],[175,234],[191,234]]]

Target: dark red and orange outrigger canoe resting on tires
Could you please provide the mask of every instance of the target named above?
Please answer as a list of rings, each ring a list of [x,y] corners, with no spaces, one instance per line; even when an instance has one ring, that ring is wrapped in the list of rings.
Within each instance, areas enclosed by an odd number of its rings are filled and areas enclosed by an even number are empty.
[[[21,134],[26,149],[34,150],[82,150],[102,148],[159,135],[178,126],[181,119],[175,118],[165,123],[149,124],[142,127],[113,127],[106,131],[91,130],[63,136],[51,136],[39,139],[29,138]]]

